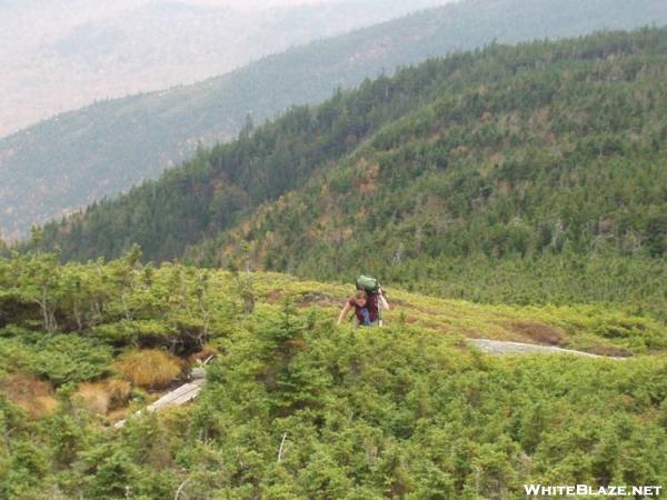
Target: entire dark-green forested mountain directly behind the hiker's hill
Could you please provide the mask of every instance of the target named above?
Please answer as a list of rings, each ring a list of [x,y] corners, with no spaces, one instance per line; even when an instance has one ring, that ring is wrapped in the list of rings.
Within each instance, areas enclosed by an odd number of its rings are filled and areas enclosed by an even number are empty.
[[[665,319],[667,30],[492,46],[295,109],[43,230],[66,259],[139,243],[485,302]],[[245,242],[250,242],[248,248]]]

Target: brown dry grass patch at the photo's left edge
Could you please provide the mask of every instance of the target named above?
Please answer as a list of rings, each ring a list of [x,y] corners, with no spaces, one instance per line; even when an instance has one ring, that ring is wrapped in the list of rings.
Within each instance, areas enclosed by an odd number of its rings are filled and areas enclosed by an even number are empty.
[[[4,392],[10,401],[37,419],[52,413],[58,408],[58,399],[53,396],[53,388],[49,382],[28,373],[12,373],[0,381],[0,391]]]

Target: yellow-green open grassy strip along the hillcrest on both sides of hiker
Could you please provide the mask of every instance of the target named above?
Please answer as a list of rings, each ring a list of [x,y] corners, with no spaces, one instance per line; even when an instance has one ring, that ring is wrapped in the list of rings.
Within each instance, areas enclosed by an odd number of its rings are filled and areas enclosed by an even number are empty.
[[[222,277],[221,277],[222,278]],[[263,303],[291,297],[302,308],[336,319],[354,286],[298,280],[279,273],[257,276]],[[388,323],[406,323],[427,331],[559,346],[597,354],[629,356],[667,349],[667,330],[653,318],[631,316],[599,304],[491,306],[440,299],[390,288]]]

